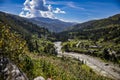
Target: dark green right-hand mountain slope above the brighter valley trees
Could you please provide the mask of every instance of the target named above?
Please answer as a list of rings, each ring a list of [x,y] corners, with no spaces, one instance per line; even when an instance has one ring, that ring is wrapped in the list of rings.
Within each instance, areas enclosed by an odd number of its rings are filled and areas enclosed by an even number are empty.
[[[114,41],[120,43],[120,14],[101,20],[93,20],[82,24],[77,24],[68,30],[59,34],[62,39],[78,38],[98,40],[100,38],[105,41]]]

